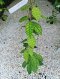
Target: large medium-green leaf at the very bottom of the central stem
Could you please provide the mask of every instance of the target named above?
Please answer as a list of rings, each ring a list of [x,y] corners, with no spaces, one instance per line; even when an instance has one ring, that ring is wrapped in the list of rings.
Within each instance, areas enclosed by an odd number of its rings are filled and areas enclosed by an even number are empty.
[[[36,59],[34,56],[30,56],[29,57],[29,61],[27,63],[27,71],[29,74],[31,74],[31,72],[36,72],[38,70],[39,67],[39,61],[38,59]]]

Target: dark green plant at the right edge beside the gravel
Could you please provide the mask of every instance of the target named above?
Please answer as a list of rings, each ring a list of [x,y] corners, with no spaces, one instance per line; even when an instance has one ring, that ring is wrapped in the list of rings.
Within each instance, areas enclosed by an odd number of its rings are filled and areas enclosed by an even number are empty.
[[[50,0],[49,0],[50,1]],[[57,20],[57,14],[59,14],[60,12],[60,0],[51,0],[54,3],[54,7],[55,9],[52,10],[52,15],[47,17],[47,23],[53,24],[56,23]],[[57,12],[57,10],[59,12]]]

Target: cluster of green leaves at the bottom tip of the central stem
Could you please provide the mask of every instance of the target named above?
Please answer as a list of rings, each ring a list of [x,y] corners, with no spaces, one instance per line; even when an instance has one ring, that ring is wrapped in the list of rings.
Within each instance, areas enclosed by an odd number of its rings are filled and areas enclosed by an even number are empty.
[[[23,68],[27,68],[29,74],[36,72],[38,67],[43,65],[43,58],[40,54],[33,52],[31,48],[28,48],[23,53],[25,61],[22,64]]]

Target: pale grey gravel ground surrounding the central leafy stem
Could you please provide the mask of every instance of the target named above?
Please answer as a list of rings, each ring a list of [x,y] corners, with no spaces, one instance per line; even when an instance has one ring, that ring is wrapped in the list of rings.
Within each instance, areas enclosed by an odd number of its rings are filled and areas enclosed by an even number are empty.
[[[52,5],[46,0],[37,0],[45,16],[50,16]],[[11,7],[13,2],[9,7]],[[48,6],[47,6],[48,5]],[[27,12],[18,10],[9,14],[6,22],[0,20],[0,79],[60,79],[60,23],[47,24],[45,20],[39,23],[43,28],[43,35],[37,38],[37,52],[43,56],[44,65],[37,73],[28,75],[22,68],[23,56],[21,51],[22,39],[26,38],[24,25],[19,18]],[[59,18],[59,15],[57,16]]]

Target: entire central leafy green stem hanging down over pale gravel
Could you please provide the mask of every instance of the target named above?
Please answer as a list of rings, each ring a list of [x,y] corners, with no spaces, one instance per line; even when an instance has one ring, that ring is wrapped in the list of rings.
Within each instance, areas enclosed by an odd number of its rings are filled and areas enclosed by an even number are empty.
[[[25,25],[27,38],[22,41],[24,49],[21,53],[24,57],[22,66],[27,68],[29,74],[32,71],[36,72],[38,67],[43,64],[42,56],[35,53],[34,49],[36,48],[35,35],[42,35],[42,27],[38,21],[44,16],[34,2],[35,0],[29,0],[29,3],[21,8],[22,11],[28,10],[28,16],[23,16],[19,20],[19,22],[27,22]]]

